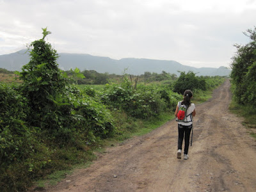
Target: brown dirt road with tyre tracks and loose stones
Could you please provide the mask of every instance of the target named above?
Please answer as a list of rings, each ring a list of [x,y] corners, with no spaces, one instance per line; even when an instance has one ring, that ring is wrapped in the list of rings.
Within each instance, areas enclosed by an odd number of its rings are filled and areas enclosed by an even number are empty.
[[[230,83],[196,106],[189,159],[177,159],[177,122],[108,148],[47,191],[256,191],[256,142],[228,112]]]

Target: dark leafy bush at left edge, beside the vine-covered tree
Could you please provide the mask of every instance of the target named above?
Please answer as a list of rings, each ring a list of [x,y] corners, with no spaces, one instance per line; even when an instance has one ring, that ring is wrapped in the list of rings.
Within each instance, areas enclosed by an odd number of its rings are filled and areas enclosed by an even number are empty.
[[[14,161],[28,157],[30,132],[26,126],[28,102],[6,84],[0,84],[0,165],[8,166]],[[32,146],[33,147],[33,146]]]

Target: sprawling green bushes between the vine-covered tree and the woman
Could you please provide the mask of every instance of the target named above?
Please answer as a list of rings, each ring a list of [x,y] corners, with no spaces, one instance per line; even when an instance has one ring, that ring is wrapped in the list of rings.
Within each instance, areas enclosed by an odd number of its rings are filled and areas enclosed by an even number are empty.
[[[159,90],[140,84],[136,87],[124,76],[122,83],[106,86],[102,102],[115,109],[122,109],[134,118],[149,118],[157,116],[165,109],[172,109],[177,102],[177,96],[171,90]]]

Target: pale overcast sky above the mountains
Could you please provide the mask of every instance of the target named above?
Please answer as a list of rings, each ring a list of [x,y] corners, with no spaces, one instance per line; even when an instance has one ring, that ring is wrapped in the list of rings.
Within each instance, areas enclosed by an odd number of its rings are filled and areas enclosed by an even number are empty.
[[[218,68],[250,41],[243,31],[256,26],[256,0],[0,0],[0,18],[0,54],[47,27],[59,53]]]

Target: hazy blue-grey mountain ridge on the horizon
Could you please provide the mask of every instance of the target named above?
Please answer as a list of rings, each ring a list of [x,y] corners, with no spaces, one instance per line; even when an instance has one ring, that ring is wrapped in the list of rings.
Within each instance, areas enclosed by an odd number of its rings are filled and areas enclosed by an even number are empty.
[[[80,70],[96,70],[100,73],[108,72],[109,74],[122,74],[125,72],[133,75],[141,75],[144,72],[156,72],[160,74],[162,71],[170,74],[177,74],[179,71],[193,71],[198,76],[228,76],[231,72],[226,67],[210,68],[202,67],[195,68],[182,65],[177,61],[167,60],[149,60],[124,58],[122,60],[113,60],[108,57],[92,56],[90,54],[70,54],[60,53],[58,58],[59,67],[62,70],[70,70],[70,68],[79,68]],[[0,68],[7,70],[20,70],[22,65],[29,62],[29,52],[21,50],[11,54],[0,55]]]

